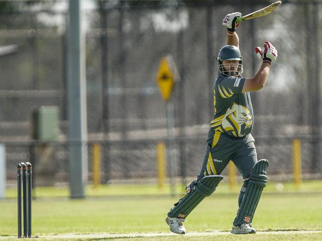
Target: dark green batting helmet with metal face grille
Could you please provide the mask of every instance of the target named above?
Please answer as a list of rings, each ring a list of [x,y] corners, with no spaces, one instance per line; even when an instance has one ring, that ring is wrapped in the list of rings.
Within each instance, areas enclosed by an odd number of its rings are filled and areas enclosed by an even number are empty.
[[[242,58],[239,48],[234,45],[225,45],[219,50],[217,57],[219,73],[226,76],[240,76],[243,73]],[[225,69],[222,60],[239,60],[237,70],[231,71],[229,64],[227,64],[228,69]]]

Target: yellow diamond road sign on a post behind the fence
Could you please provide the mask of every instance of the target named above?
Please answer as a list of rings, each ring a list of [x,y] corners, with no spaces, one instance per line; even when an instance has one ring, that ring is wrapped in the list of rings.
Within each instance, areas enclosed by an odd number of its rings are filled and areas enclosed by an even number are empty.
[[[157,83],[160,89],[162,98],[168,101],[171,96],[171,91],[174,86],[174,76],[171,71],[170,63],[167,58],[161,59],[160,67],[157,75]]]

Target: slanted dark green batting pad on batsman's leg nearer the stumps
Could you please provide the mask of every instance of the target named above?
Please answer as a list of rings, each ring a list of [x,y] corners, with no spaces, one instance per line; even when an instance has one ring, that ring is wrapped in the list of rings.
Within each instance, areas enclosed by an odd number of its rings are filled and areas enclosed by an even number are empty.
[[[215,192],[218,184],[223,179],[221,175],[206,176],[196,182],[193,186],[191,183],[191,190],[175,205],[168,217],[172,218],[186,218],[192,210],[205,198]]]

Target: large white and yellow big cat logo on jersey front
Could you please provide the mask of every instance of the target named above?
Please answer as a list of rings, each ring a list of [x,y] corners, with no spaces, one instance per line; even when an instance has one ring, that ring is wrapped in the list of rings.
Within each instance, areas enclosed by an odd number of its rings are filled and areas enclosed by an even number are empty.
[[[252,128],[253,117],[249,109],[243,105],[233,103],[222,119],[221,126],[225,132],[234,137],[243,137]]]

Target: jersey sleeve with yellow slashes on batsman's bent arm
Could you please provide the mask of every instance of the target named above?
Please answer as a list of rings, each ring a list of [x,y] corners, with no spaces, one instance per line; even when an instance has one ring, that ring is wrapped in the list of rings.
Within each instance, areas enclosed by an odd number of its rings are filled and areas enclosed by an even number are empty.
[[[216,82],[218,93],[223,98],[241,94],[246,78],[227,76]]]

